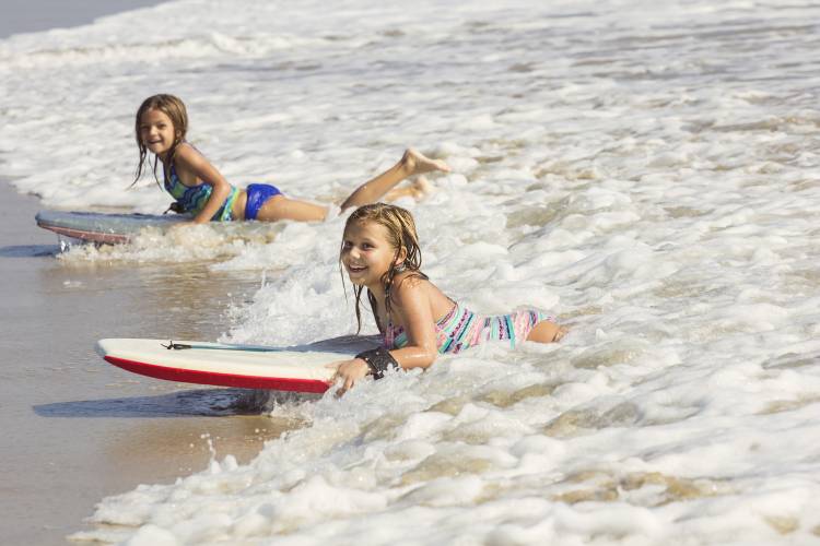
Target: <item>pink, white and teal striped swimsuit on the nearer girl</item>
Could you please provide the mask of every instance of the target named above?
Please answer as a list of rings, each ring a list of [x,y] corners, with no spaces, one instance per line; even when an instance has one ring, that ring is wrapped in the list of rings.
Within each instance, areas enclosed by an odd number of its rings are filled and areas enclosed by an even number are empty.
[[[509,340],[509,346],[515,347],[543,320],[555,321],[553,317],[532,309],[481,317],[454,302],[453,309],[435,323],[438,353],[458,353],[487,341],[501,340]],[[405,329],[388,322],[384,332],[385,347],[401,348],[407,343]]]

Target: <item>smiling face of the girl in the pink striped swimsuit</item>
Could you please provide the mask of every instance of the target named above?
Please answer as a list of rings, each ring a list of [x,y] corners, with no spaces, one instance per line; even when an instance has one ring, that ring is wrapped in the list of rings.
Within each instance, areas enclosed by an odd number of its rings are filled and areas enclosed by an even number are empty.
[[[388,239],[385,226],[376,222],[354,222],[344,229],[341,262],[350,282],[380,292],[382,277],[390,264],[400,263],[396,247]]]

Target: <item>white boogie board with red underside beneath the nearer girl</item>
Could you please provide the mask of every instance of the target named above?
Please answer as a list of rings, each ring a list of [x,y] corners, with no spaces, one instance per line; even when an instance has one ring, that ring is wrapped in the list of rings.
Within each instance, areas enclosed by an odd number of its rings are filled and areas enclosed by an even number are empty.
[[[366,337],[336,344],[293,347],[231,345],[141,339],[99,340],[97,353],[114,366],[168,381],[244,389],[325,392],[333,370],[327,364],[347,360],[373,347]],[[332,341],[332,340],[331,340]],[[363,344],[364,342],[364,344]]]

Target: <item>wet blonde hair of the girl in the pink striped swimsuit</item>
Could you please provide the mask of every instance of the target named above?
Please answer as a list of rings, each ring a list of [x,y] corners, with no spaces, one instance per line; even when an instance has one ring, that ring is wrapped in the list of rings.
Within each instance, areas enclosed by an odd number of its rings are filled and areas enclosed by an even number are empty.
[[[387,203],[373,203],[360,206],[353,214],[348,217],[348,222],[344,224],[344,233],[348,232],[348,227],[353,224],[366,224],[368,222],[376,223],[384,226],[387,230],[387,242],[395,249],[394,259],[390,261],[390,269],[382,276],[382,284],[385,286],[385,307],[387,316],[390,316],[390,289],[393,288],[393,282],[397,273],[409,271],[414,276],[421,278],[427,278],[427,276],[421,272],[421,248],[419,246],[419,235],[415,232],[415,222],[413,221],[412,214],[409,211],[387,204]],[[344,241],[342,240],[342,247],[339,250],[339,261],[341,262],[341,253],[344,249]],[[396,260],[401,256],[402,250],[406,252],[405,260],[400,264],[396,264]],[[406,277],[407,278],[407,277]],[[344,274],[342,273],[342,284],[344,283]],[[359,302],[362,297],[363,286],[353,286],[353,294],[356,297],[356,333],[362,330],[362,311]],[[367,290],[367,301],[371,304],[373,316],[376,319],[376,325],[379,331],[383,331],[382,324],[378,322],[378,316],[376,314],[376,298],[373,294]]]

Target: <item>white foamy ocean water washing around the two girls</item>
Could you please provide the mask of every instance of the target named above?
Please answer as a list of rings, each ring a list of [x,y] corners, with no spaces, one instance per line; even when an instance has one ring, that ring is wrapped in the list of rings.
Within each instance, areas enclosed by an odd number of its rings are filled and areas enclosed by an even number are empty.
[[[454,169],[402,202],[424,271],[572,329],[277,401],[304,426],[101,499],[71,539],[820,541],[818,20],[799,1],[198,0],[0,41],[0,173],[46,205],[164,210],[150,177],[128,189],[133,114],[160,92],[231,180],[317,201],[415,145]],[[355,330],[343,222],[58,259],[258,275],[221,339],[306,343]]]

